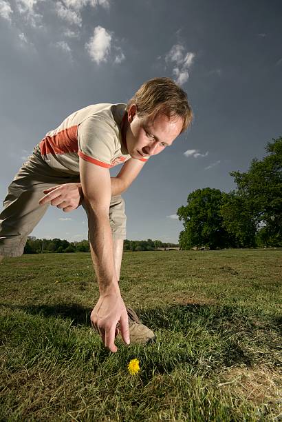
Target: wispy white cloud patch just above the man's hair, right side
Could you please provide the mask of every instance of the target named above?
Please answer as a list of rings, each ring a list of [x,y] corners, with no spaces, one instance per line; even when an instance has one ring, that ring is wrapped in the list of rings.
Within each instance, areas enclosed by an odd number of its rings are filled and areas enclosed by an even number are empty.
[[[188,81],[189,72],[195,58],[195,53],[185,52],[185,48],[182,44],[175,44],[171,50],[166,54],[166,63],[172,63],[173,75],[176,83],[183,85]]]

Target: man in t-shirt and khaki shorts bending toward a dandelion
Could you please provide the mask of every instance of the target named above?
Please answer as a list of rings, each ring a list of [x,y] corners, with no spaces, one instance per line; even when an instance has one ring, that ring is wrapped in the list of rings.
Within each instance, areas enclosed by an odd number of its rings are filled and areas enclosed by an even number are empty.
[[[28,234],[50,203],[65,212],[82,203],[100,290],[91,324],[111,352],[117,350],[119,332],[127,344],[130,337],[138,343],[154,338],[120,294],[126,237],[120,194],[147,159],[169,147],[191,120],[186,93],[169,78],[151,79],[127,105],[96,104],[67,117],[36,145],[9,186],[0,214],[0,260],[23,253]],[[119,163],[118,176],[111,178],[109,168]]]

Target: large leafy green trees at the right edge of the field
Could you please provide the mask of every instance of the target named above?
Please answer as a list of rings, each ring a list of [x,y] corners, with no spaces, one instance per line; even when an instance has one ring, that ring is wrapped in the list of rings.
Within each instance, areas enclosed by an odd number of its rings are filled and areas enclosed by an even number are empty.
[[[282,137],[253,159],[246,172],[230,172],[237,188],[197,189],[177,210],[184,224],[180,248],[255,248],[282,246]]]

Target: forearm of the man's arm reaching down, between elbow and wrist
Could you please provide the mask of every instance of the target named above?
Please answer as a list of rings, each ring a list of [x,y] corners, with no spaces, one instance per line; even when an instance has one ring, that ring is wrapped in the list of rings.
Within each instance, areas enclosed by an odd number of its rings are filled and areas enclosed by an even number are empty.
[[[98,278],[100,294],[109,291],[120,294],[113,260],[113,240],[109,217],[94,212],[92,208],[89,208],[88,213],[91,257]]]

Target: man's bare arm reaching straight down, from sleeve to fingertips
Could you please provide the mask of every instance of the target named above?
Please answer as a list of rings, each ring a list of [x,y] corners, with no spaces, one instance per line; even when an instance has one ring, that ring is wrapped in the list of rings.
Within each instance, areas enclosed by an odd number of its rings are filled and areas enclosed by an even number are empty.
[[[120,295],[113,261],[113,241],[109,225],[111,178],[109,170],[80,159],[80,181],[88,212],[91,256],[99,283],[100,298],[91,312],[105,346],[116,352],[116,325],[125,343],[129,343],[127,310]]]

